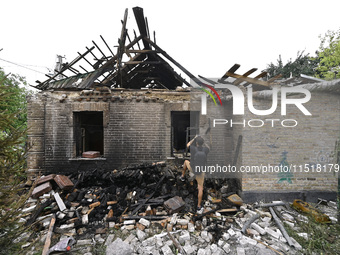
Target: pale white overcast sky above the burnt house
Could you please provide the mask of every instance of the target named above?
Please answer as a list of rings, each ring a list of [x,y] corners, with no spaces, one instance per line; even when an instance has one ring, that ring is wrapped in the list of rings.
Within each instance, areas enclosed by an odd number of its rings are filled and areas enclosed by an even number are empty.
[[[192,74],[209,78],[235,63],[240,74],[258,68],[256,76],[279,55],[284,63],[298,51],[314,55],[319,36],[340,28],[338,0],[4,0],[0,6],[0,67],[31,85],[46,80],[57,54],[71,62],[100,35],[116,46],[126,8],[133,37],[135,6],[144,9],[158,46]]]

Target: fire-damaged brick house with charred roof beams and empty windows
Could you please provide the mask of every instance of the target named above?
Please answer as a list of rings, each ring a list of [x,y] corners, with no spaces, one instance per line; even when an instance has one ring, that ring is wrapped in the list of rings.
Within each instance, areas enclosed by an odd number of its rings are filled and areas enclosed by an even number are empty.
[[[299,122],[293,128],[249,126],[250,119],[267,117],[254,117],[247,107],[243,116],[233,116],[233,100],[223,91],[218,91],[221,105],[208,100],[204,115],[202,91],[190,91],[192,85],[173,66],[198,84],[204,82],[213,87],[217,82],[197,78],[177,63],[155,39],[150,39],[143,9],[135,7],[133,12],[139,36],[135,33],[130,38],[127,33],[126,11],[116,53],[101,37],[101,47],[93,42],[93,47],[78,53],[75,60],[60,66],[54,75],[36,86],[41,92],[28,99],[27,162],[31,176],[39,172],[94,168],[112,171],[131,163],[183,158],[188,155],[187,141],[196,134],[202,135],[210,145],[209,162],[213,164],[324,166],[334,163],[335,142],[340,134],[340,82],[316,86],[313,84],[319,83],[309,79],[308,83],[312,84],[301,85],[312,89],[306,107],[313,116],[308,118],[299,109],[288,108],[289,114]],[[219,82],[242,90],[251,84],[255,91],[254,107],[270,108],[272,97],[263,89],[270,88],[275,79],[260,80],[265,72],[249,78],[255,69],[237,75],[238,67],[233,66]],[[278,107],[270,118],[281,120],[279,115]],[[241,124],[214,127],[213,120],[219,116]],[[243,121],[247,124],[243,125]],[[86,151],[99,151],[100,157],[84,158],[82,154]],[[275,195],[311,199],[315,192],[319,197],[334,197],[337,191],[334,172],[311,176],[290,169],[289,173],[244,172],[233,177],[249,201]]]

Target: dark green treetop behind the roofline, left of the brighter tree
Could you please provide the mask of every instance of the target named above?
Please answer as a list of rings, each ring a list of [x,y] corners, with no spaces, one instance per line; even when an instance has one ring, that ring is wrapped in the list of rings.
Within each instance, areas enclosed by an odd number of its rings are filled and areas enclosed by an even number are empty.
[[[317,65],[317,58],[311,58],[309,54],[305,54],[304,51],[302,51],[297,53],[297,57],[294,61],[290,59],[285,65],[283,64],[280,55],[276,64],[270,63],[267,65],[266,71],[269,74],[269,78],[278,74],[282,74],[283,78],[289,78],[291,75],[293,77],[299,77],[300,74],[313,76]]]

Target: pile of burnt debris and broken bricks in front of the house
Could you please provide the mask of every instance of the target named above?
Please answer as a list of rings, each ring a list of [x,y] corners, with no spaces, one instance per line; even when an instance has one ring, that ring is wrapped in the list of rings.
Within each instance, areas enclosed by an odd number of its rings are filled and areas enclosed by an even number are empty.
[[[17,241],[27,241],[23,248],[31,254],[39,249],[34,240],[44,245],[42,254],[71,250],[89,255],[95,244],[105,247],[106,254],[301,251],[283,223],[295,228],[308,219],[286,203],[243,204],[226,180],[208,179],[205,210],[197,215],[194,178],[182,182],[179,170],[159,162],[113,172],[95,169],[39,177],[21,216],[33,234],[25,233]],[[319,222],[336,221],[303,201],[294,201],[294,206]]]

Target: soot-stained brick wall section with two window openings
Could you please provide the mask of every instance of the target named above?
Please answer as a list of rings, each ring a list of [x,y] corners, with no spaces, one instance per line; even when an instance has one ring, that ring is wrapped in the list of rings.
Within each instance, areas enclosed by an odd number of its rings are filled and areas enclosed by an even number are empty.
[[[166,160],[171,156],[171,112],[200,111],[200,103],[190,104],[189,93],[120,92],[84,96],[76,92],[44,92],[29,100],[29,172],[107,170],[133,163]],[[209,107],[210,108],[210,107]],[[212,108],[211,108],[212,109]],[[219,108],[230,114],[229,107]],[[74,113],[103,112],[105,160],[76,158]],[[229,113],[228,113],[229,112]],[[213,115],[213,111],[209,114]],[[232,154],[231,129],[226,139],[209,128],[212,116],[199,116],[200,134],[211,147],[210,160],[229,162]]]

